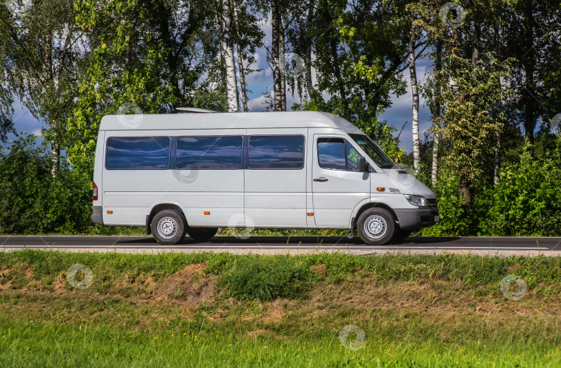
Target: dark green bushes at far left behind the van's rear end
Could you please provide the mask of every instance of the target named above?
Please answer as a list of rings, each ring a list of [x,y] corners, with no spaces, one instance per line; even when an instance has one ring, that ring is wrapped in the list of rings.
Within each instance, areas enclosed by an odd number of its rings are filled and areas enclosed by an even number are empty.
[[[91,182],[66,165],[56,177],[46,143],[23,135],[0,152],[0,233],[83,231],[91,226]]]

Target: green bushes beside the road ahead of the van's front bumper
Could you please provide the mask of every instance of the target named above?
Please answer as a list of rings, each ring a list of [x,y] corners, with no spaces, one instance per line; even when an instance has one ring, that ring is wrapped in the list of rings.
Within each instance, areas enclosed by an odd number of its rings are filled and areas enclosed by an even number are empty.
[[[506,162],[499,182],[474,186],[466,207],[454,170],[438,170],[440,222],[422,229],[423,236],[559,236],[561,234],[560,142],[543,151],[527,145],[519,161]]]

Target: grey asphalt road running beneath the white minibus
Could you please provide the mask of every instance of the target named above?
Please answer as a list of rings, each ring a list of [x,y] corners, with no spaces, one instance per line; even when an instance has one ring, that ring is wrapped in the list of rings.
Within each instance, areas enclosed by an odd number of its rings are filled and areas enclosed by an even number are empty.
[[[561,238],[412,237],[393,245],[365,245],[360,238],[316,236],[215,236],[206,243],[185,238],[177,245],[159,245],[151,236],[0,236],[0,249],[458,249],[561,251]]]

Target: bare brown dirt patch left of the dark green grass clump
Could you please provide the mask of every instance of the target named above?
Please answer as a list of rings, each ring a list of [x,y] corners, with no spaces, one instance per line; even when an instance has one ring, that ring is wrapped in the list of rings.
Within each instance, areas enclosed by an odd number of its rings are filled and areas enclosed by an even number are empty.
[[[204,277],[204,270],[206,270],[206,263],[197,263],[175,272],[154,290],[154,299],[156,301],[175,299],[190,304],[213,299],[216,295],[217,277],[216,275]]]

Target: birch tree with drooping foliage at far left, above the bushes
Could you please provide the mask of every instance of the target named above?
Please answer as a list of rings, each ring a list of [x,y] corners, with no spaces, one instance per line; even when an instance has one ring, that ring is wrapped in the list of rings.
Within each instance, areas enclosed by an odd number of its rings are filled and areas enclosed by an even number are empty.
[[[64,119],[73,103],[82,31],[75,24],[73,3],[34,3],[25,14],[0,14],[0,47],[9,60],[8,85],[37,120],[46,124],[51,141],[52,173],[60,165]]]

